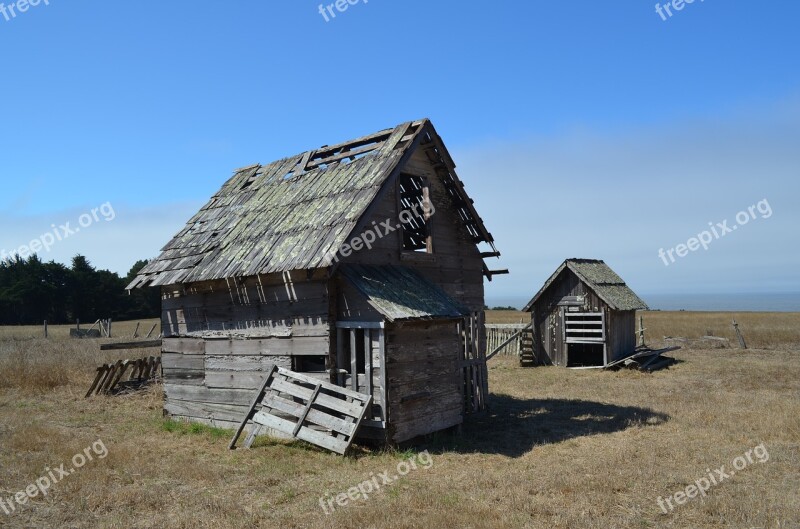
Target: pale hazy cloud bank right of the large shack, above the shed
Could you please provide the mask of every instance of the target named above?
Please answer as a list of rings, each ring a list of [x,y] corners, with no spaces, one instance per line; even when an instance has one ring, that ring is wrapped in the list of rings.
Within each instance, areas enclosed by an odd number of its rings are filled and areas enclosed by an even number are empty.
[[[642,292],[800,290],[800,104],[605,133],[503,138],[452,149],[512,275],[529,297],[568,257],[605,259]],[[774,210],[670,266],[658,258],[762,199]]]

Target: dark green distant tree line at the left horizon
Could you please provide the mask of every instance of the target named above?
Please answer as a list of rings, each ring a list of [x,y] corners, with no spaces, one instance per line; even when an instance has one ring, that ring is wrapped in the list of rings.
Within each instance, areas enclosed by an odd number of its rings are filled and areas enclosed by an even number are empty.
[[[0,262],[0,325],[92,323],[98,319],[155,318],[161,313],[158,288],[125,287],[147,261],[137,261],[128,275],[97,270],[76,255],[72,266],[49,263],[33,255]]]

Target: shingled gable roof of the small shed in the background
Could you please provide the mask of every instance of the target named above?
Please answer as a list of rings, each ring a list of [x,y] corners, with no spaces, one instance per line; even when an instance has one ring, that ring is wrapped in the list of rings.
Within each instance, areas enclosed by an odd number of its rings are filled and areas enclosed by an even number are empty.
[[[542,294],[552,285],[558,276],[568,268],[587,287],[592,289],[597,296],[605,301],[614,310],[647,310],[647,304],[625,284],[625,281],[614,272],[605,262],[597,259],[567,259],[558,267],[553,275],[545,281],[544,286],[525,305],[524,311],[528,312],[539,300]]]

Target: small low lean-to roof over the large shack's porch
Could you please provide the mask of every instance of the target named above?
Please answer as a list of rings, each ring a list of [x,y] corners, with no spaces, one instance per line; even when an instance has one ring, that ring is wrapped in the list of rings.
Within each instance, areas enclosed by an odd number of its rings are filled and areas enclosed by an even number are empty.
[[[346,265],[342,273],[390,322],[469,314],[444,290],[408,267]]]

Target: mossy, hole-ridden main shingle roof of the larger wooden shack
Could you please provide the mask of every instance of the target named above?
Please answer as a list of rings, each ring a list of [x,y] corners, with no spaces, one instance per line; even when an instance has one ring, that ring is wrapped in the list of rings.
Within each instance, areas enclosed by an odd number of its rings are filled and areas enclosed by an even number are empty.
[[[477,242],[491,234],[427,119],[237,170],[129,289],[330,266],[384,183],[433,143]]]

